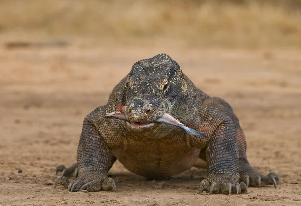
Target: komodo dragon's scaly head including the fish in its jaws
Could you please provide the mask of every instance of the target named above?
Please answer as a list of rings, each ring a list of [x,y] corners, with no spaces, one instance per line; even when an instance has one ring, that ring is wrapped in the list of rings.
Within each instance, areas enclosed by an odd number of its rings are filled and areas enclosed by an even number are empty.
[[[127,79],[121,105],[115,104],[115,112],[105,117],[123,120],[129,129],[148,138],[162,138],[176,127],[193,138],[193,135],[207,138],[179,122],[192,125],[195,118],[191,117],[197,112],[188,103],[186,78],[180,66],[168,55],[138,61]]]

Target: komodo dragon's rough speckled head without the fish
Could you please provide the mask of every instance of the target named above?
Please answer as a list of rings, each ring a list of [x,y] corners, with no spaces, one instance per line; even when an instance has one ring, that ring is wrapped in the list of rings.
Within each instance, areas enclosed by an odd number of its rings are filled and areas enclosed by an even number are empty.
[[[180,66],[168,55],[159,54],[136,62],[127,82],[125,117],[128,126],[144,129],[143,133],[149,127],[154,132],[154,127],[159,126],[154,122],[171,112],[175,102],[183,101],[186,90]]]

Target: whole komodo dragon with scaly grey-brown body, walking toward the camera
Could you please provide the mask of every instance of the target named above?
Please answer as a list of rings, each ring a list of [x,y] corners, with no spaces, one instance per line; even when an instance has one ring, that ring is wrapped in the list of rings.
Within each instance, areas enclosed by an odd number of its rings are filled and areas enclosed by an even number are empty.
[[[164,115],[172,125],[158,120]],[[192,137],[175,122],[204,135]],[[198,158],[207,161],[201,193],[239,194],[248,186],[276,188],[279,182],[274,173],[264,176],[250,166],[245,135],[231,106],[196,88],[177,62],[159,54],[136,62],[107,104],[85,117],[77,163],[57,168],[63,173],[55,186],[71,192],[116,191],[108,177],[116,159],[129,171],[156,179],[179,174]],[[73,173],[71,182],[67,177]]]

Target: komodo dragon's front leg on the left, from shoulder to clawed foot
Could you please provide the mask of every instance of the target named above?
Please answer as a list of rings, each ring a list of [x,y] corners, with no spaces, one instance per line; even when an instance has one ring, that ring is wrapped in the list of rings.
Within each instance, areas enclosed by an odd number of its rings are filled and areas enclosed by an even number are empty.
[[[73,182],[67,181],[66,177],[60,177],[57,180],[59,184],[68,182],[70,192],[116,190],[115,182],[108,178],[113,154],[102,138],[97,121],[103,112],[105,112],[105,107],[100,107],[84,119],[77,149],[77,178]]]

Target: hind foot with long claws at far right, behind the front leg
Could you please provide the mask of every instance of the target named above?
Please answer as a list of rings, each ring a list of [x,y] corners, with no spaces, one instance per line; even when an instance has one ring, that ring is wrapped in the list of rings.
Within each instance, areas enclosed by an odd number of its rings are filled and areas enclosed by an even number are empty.
[[[279,178],[274,173],[269,173],[267,176],[264,176],[257,172],[250,165],[244,166],[242,172],[240,172],[240,182],[244,182],[247,187],[261,187],[264,185],[274,185],[277,188],[277,184],[279,183]]]

